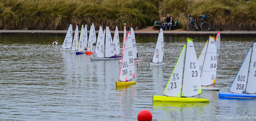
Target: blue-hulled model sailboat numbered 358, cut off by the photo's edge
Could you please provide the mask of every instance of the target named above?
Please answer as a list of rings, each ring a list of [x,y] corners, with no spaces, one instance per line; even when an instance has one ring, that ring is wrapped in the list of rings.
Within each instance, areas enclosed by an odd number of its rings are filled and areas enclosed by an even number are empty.
[[[231,93],[219,93],[219,97],[256,98],[256,42],[250,47],[243,64],[229,88]]]

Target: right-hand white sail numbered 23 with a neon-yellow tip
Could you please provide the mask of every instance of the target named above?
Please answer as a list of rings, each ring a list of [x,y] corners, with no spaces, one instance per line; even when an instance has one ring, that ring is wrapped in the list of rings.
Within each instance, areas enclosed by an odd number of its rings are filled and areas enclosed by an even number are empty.
[[[187,38],[184,75],[182,83],[182,97],[191,97],[202,93],[199,66],[194,44]]]

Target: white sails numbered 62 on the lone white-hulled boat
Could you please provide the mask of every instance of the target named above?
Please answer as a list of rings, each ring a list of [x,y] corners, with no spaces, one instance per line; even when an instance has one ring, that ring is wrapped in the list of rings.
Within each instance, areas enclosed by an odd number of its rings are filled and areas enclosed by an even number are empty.
[[[161,63],[163,61],[163,44],[163,30],[160,29],[152,59],[153,63]]]

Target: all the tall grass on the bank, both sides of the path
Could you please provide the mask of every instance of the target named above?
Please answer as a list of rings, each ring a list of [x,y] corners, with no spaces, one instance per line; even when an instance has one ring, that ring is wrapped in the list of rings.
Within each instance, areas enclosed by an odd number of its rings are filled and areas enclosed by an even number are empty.
[[[169,13],[186,29],[188,13],[211,24],[211,30],[256,29],[256,0],[0,0],[0,29],[67,29],[71,23],[95,28],[152,26]],[[161,7],[158,11],[158,7]]]

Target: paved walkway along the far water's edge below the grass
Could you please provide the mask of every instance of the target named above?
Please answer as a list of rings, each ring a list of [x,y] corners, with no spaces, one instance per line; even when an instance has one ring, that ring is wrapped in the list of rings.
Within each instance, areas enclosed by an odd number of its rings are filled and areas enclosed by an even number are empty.
[[[74,33],[75,31],[73,31]],[[79,31],[80,32],[80,31]],[[36,35],[66,35],[67,30],[0,30],[0,35],[14,35],[14,34],[36,34]],[[89,31],[88,31],[89,33]],[[98,31],[96,31],[98,33]],[[135,35],[158,35],[159,31],[140,31],[136,30]],[[165,36],[209,36],[216,35],[217,31],[164,31]],[[114,34],[114,31],[111,31]],[[119,35],[122,35],[123,31],[119,30]],[[255,36],[256,31],[220,31],[221,36]]]

